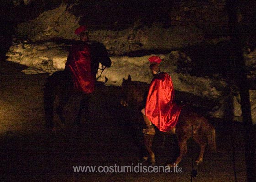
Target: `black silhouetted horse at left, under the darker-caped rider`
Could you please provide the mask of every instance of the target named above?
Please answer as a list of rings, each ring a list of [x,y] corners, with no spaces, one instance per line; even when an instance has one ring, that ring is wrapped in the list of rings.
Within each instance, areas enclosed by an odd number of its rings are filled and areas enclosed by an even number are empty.
[[[101,69],[102,73],[105,67],[111,66],[111,60],[108,56],[108,52],[105,46],[102,43],[92,42],[91,44],[89,44],[89,47],[91,53],[91,72],[94,78],[96,78],[98,69]],[[99,66],[99,63],[101,63],[102,65]],[[82,111],[84,111],[85,109],[87,109],[88,111],[88,94],[77,92],[74,90],[72,75],[69,71],[56,71],[47,78],[43,91],[46,126],[50,128],[54,127],[54,101],[56,96],[58,96],[59,104],[56,108],[56,113],[59,116],[62,126],[64,127],[65,117],[63,114],[63,109],[71,96],[75,95],[82,97],[79,111],[75,118],[75,123],[80,125]],[[90,116],[88,114],[86,116],[86,119],[90,119]]]

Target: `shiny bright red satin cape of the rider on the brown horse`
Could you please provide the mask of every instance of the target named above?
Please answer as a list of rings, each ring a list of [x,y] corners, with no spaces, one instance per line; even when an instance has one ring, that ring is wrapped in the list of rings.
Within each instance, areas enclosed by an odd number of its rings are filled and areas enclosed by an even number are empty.
[[[155,75],[150,84],[145,113],[160,131],[170,131],[178,121],[181,107],[173,102],[173,98],[171,76],[165,72]]]

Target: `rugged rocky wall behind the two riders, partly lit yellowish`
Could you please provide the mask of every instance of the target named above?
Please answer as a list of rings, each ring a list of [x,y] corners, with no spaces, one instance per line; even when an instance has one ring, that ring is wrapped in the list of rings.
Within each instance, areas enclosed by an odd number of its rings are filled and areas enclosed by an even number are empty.
[[[16,0],[15,5],[28,7],[33,3],[39,1]],[[54,5],[58,6],[48,10],[49,5],[42,5],[45,11],[16,25],[13,44],[6,55],[8,61],[27,65],[24,73],[64,69],[72,40],[78,38],[75,28],[88,25],[90,39],[106,46],[113,63],[99,81],[107,77],[107,85],[120,86],[122,78],[130,74],[135,81],[150,83],[147,58],[158,55],[164,60],[162,70],[171,74],[183,99],[186,94],[197,97],[191,103],[206,107],[209,116],[224,118],[226,101],[231,97],[234,120],[241,121],[240,97],[237,91],[230,94],[224,74],[224,69],[229,69],[225,68],[227,60],[233,56],[224,0],[66,0]],[[243,8],[238,17],[239,25],[245,25],[248,18]],[[248,43],[249,36],[245,35],[245,61],[253,83],[256,52],[253,41]],[[250,96],[255,118],[256,92],[251,90]]]

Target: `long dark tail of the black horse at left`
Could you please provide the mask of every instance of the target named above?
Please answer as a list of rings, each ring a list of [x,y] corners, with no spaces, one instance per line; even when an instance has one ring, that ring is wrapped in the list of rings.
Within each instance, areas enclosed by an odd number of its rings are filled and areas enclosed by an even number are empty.
[[[53,127],[53,107],[55,100],[54,75],[48,77],[43,91],[43,104],[46,125]]]

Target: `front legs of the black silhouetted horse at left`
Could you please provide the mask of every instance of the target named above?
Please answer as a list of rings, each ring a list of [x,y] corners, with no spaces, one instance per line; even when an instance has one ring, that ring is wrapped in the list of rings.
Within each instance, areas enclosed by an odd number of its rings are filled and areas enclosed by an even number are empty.
[[[88,95],[84,95],[82,101],[80,102],[79,110],[78,110],[77,116],[75,118],[75,123],[77,125],[81,124],[81,116],[82,116],[83,112],[86,114],[85,115],[85,119],[86,120],[90,120],[91,119],[91,116],[89,114],[88,101],[89,101],[89,96]]]

